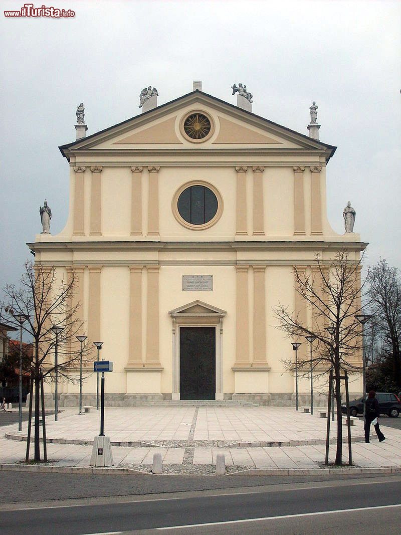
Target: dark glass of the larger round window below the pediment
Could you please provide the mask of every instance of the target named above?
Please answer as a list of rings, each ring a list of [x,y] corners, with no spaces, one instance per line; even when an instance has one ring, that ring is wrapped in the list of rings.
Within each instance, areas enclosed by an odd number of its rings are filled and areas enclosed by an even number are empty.
[[[178,211],[187,223],[203,225],[216,215],[217,197],[205,186],[190,186],[178,199]]]

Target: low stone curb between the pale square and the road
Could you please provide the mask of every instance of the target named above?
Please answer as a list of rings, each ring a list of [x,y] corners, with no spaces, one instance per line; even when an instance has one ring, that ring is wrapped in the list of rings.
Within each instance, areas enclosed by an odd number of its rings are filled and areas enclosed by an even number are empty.
[[[133,475],[133,476],[154,476],[151,472],[142,472],[132,468],[91,468],[91,467],[62,467],[44,466],[39,464],[0,464],[0,471],[9,472],[41,472],[41,473],[75,473],[91,475]],[[322,476],[326,475],[360,475],[360,474],[380,474],[380,473],[401,473],[401,467],[385,468],[289,468],[289,469],[255,469],[241,470],[239,472],[227,473],[226,476]],[[162,473],[162,476],[177,476],[175,473]],[[215,476],[216,474],[179,474],[182,476]]]

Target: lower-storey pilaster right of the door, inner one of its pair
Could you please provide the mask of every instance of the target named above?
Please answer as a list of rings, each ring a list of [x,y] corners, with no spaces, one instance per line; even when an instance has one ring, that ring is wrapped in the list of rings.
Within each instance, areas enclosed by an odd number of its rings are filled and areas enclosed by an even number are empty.
[[[235,368],[249,366],[248,265],[236,265],[236,353]]]

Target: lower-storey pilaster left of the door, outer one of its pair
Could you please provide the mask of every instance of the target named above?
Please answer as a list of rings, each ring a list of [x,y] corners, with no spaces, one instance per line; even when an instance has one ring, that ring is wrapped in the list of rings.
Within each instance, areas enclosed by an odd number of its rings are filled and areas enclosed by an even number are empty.
[[[142,266],[129,266],[129,357],[128,366],[142,363]]]

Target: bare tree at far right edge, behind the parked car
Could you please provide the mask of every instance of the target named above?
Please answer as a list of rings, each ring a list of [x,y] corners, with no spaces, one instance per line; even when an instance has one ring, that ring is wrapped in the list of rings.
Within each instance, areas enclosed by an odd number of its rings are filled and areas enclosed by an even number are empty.
[[[368,293],[373,324],[382,343],[382,354],[392,367],[392,381],[401,387],[401,277],[385,259],[369,269]]]

